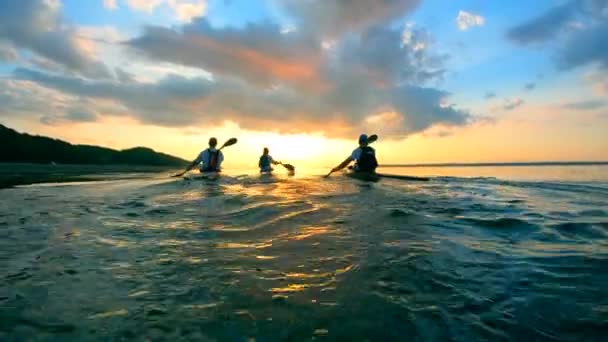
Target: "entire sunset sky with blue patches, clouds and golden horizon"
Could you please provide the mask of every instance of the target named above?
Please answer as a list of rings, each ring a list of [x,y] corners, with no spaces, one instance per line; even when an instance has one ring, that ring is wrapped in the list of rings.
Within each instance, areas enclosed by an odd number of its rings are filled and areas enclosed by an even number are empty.
[[[608,0],[0,1],[0,123],[226,165],[608,160]]]

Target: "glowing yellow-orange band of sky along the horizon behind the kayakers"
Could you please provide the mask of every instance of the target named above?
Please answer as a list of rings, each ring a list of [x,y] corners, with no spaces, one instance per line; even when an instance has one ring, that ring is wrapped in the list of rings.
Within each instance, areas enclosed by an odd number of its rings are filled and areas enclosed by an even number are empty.
[[[265,146],[276,159],[300,167],[326,167],[340,162],[356,147],[356,137],[347,141],[313,134],[261,133],[232,123],[212,129],[142,125],[126,118],[58,126],[19,121],[8,124],[73,143],[118,149],[148,146],[185,159],[204,149],[210,136],[220,141],[234,136],[239,143],[225,150],[228,167],[255,166]],[[608,160],[605,127],[608,117],[599,113],[573,116],[567,110],[530,105],[494,121],[432,128],[402,140],[383,140],[381,136],[375,147],[384,164]]]

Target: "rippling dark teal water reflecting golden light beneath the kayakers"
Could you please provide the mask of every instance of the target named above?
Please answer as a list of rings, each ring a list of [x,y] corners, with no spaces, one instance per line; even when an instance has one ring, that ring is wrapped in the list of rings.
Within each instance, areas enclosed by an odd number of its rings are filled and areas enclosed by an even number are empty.
[[[0,190],[0,340],[608,340],[608,167]]]

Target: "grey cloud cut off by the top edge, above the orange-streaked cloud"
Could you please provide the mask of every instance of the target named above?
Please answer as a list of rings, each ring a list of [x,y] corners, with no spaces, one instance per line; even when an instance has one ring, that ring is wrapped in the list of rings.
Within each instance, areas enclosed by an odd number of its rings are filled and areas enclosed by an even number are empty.
[[[278,0],[300,29],[322,38],[338,38],[347,32],[361,32],[378,23],[403,17],[420,0]]]

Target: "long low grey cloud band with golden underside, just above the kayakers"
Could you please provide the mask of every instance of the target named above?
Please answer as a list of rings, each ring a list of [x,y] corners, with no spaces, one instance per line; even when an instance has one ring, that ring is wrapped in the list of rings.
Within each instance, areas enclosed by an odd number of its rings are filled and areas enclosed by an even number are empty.
[[[393,111],[401,125],[392,127],[391,133],[403,136],[438,123],[462,125],[470,118],[466,111],[444,104],[448,93],[405,85],[379,90],[344,80],[333,91],[314,97],[290,88],[269,90],[230,79],[175,75],[156,83],[128,84],[27,69],[18,69],[15,77],[74,97],[113,101],[141,122],[172,127],[219,125],[228,120],[253,130],[271,127],[280,132],[345,137],[360,131],[368,117]]]

